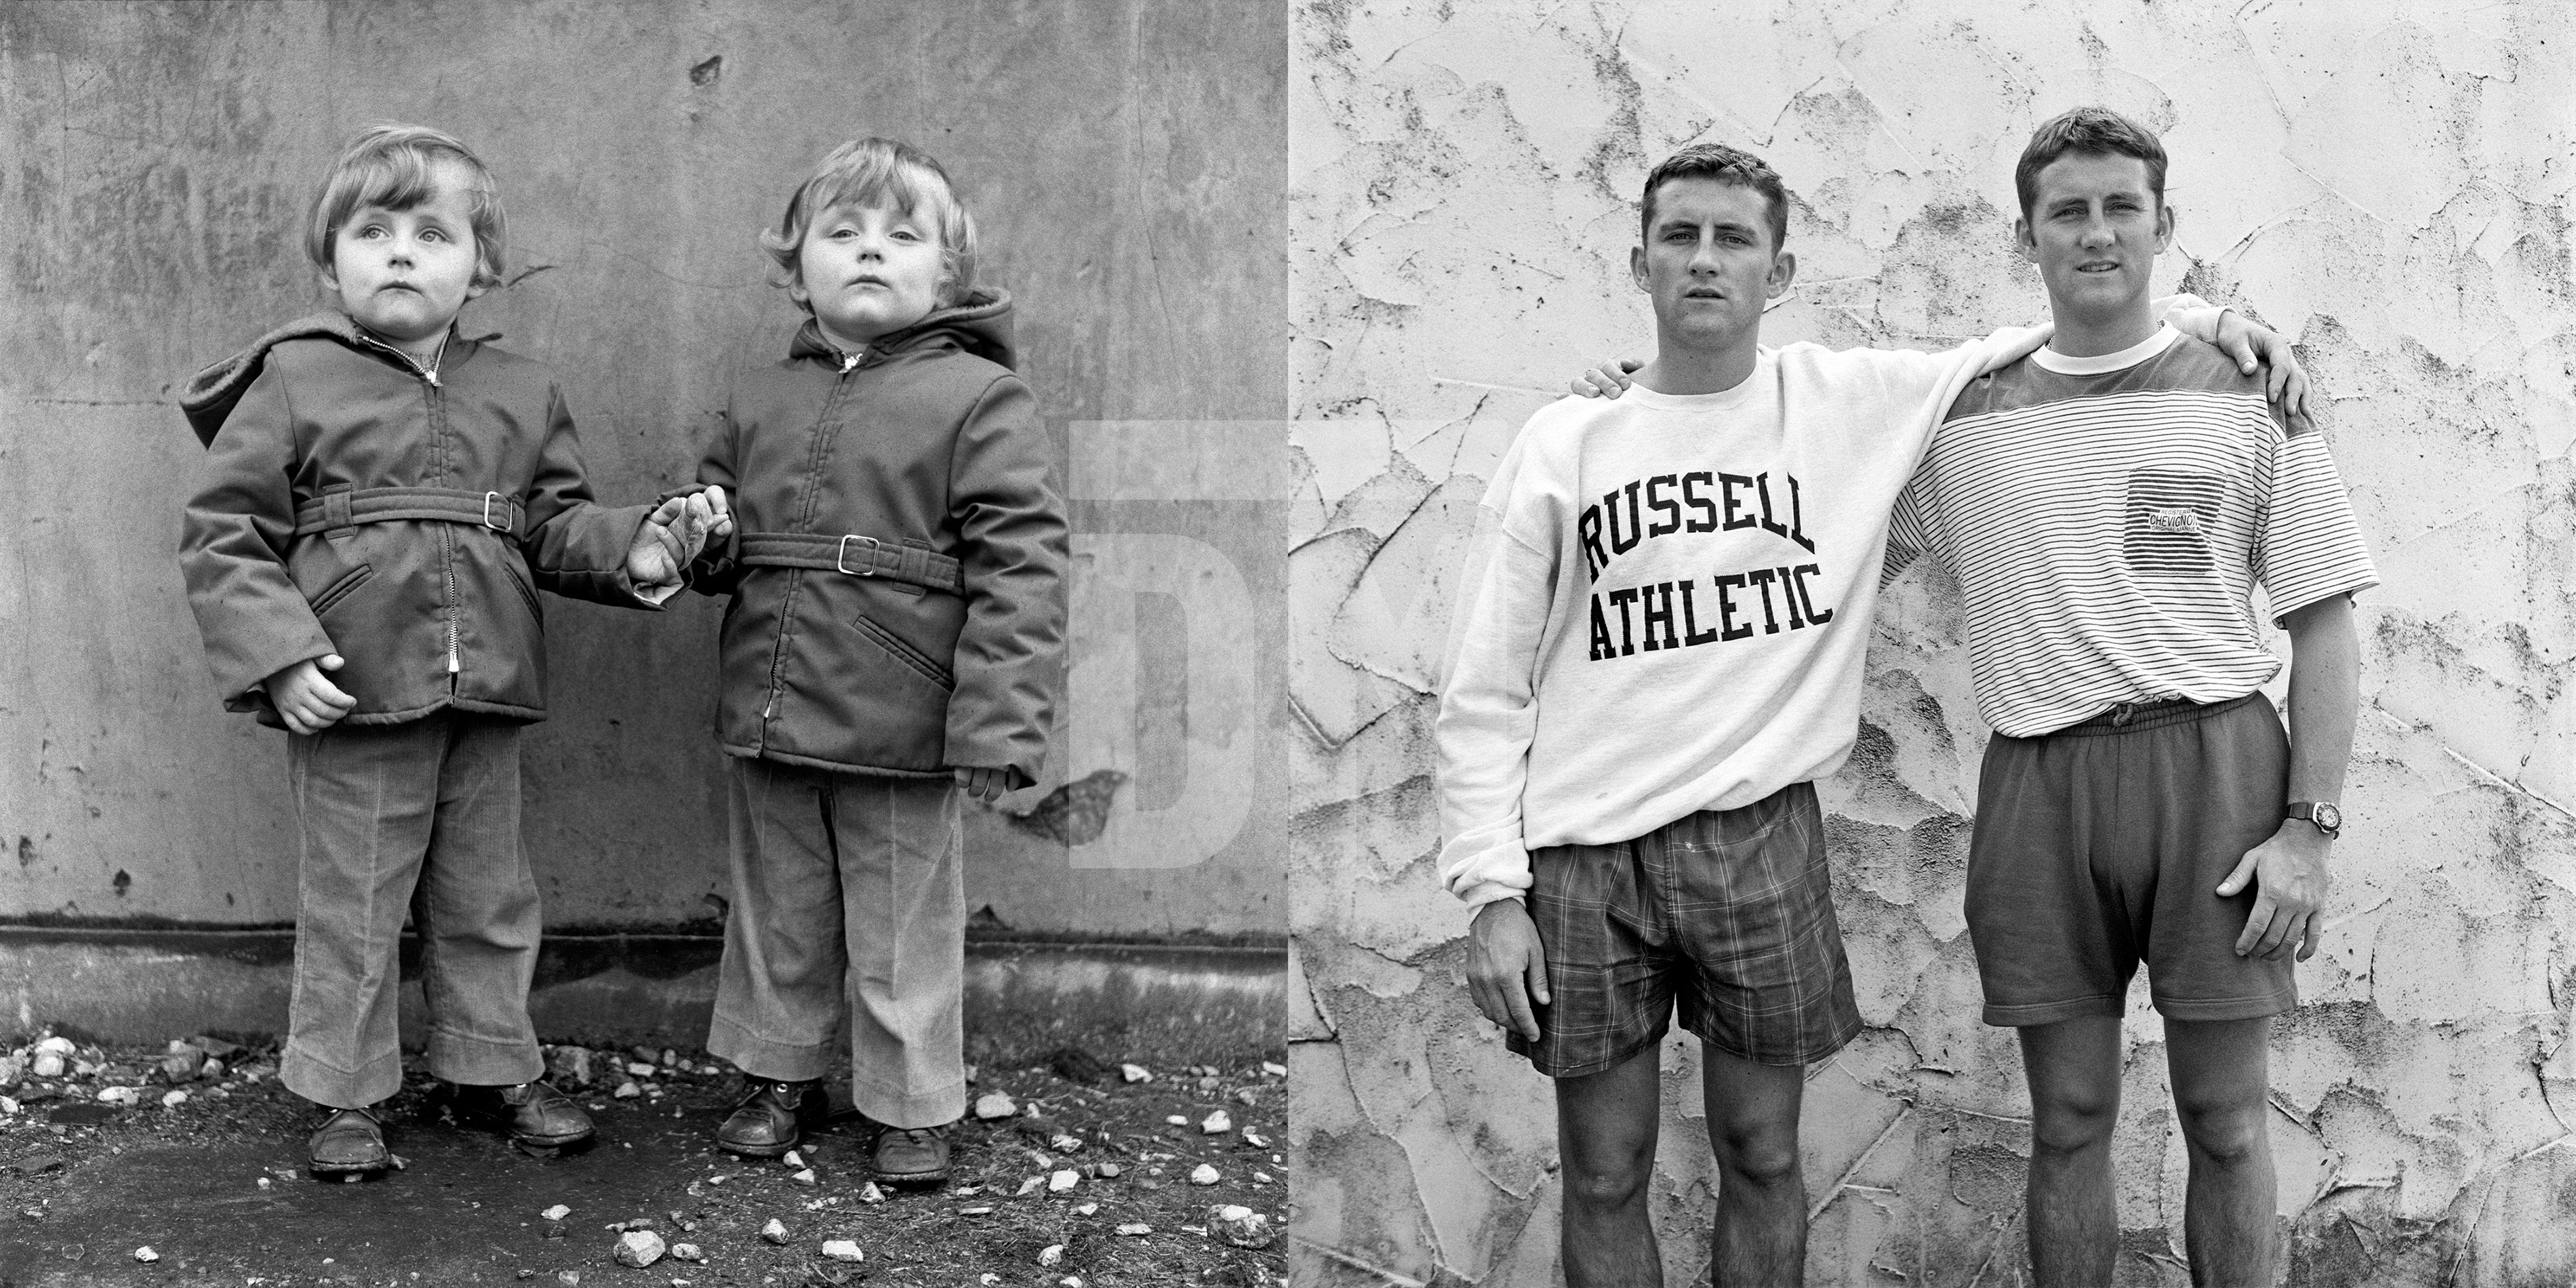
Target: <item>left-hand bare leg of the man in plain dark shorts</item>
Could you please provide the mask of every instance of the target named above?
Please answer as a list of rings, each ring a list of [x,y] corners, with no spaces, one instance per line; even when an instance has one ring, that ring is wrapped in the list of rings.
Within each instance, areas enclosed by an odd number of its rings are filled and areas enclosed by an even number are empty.
[[[2120,1118],[2120,1020],[2022,1028],[2030,1077],[2030,1273],[2040,1288],[2099,1288],[2120,1252],[2110,1131]]]

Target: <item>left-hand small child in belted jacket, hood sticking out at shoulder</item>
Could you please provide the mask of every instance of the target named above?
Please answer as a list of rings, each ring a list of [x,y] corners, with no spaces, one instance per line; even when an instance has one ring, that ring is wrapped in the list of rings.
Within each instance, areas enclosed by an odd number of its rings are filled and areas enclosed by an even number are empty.
[[[180,567],[227,711],[289,729],[301,835],[278,1082],[332,1110],[314,1172],[392,1162],[397,951],[422,945],[430,1072],[456,1113],[564,1146],[590,1118],[541,1082],[538,896],[518,729],[546,716],[536,592],[654,608],[721,497],[590,500],[554,376],[456,330],[500,283],[492,173],[422,126],[332,165],[304,252],[337,309],[263,335],[180,397],[206,443]]]

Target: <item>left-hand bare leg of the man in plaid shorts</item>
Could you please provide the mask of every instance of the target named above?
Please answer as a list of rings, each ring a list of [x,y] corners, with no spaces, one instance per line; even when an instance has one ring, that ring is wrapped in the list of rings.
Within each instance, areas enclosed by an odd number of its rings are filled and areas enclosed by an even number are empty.
[[[1618,1069],[1556,1079],[1566,1288],[1664,1288],[1664,1257],[1646,1221],[1662,1113],[1656,1051],[1649,1046]]]

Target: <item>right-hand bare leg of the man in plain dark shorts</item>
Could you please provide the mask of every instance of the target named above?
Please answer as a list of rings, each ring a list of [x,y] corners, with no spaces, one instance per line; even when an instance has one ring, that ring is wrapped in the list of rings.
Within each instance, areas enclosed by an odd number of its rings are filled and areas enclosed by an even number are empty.
[[[2164,1061],[2174,1079],[2174,1115],[2192,1159],[2184,1190],[2182,1247],[2202,1288],[2272,1283],[2272,1018],[2166,1020]]]

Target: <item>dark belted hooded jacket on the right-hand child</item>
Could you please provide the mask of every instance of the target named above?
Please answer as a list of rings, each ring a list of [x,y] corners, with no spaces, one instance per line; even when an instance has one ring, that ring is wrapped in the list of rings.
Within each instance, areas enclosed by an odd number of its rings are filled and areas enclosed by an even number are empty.
[[[1010,296],[971,291],[842,355],[809,319],[734,379],[698,484],[734,536],[693,585],[732,595],[716,742],[899,778],[1036,781],[1064,675],[1064,500]],[[801,551],[762,562],[762,551]],[[956,564],[948,564],[953,559]]]

